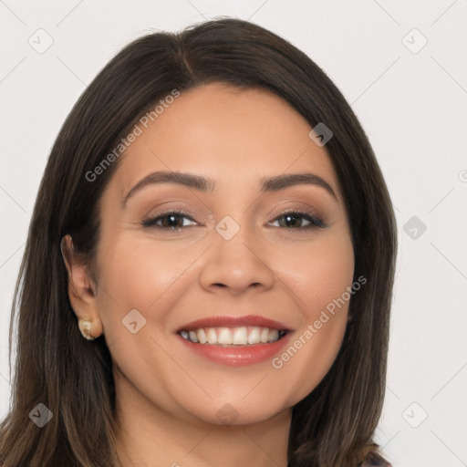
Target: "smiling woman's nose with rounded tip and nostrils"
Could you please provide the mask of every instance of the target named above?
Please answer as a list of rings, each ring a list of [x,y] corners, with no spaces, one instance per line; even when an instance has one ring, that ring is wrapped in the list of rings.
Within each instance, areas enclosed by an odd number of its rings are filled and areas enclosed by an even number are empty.
[[[200,283],[211,292],[225,289],[233,296],[248,289],[270,289],[275,283],[270,253],[246,227],[229,240],[215,232],[212,246],[202,256]]]

